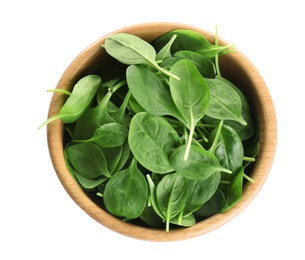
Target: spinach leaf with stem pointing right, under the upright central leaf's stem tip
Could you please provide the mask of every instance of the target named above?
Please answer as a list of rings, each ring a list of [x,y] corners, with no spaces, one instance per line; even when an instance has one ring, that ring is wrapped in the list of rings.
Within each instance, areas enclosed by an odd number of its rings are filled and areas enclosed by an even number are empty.
[[[181,176],[192,180],[204,180],[218,171],[231,173],[223,168],[217,158],[201,147],[191,145],[189,158],[184,160],[185,145],[178,147],[170,156],[170,163]]]

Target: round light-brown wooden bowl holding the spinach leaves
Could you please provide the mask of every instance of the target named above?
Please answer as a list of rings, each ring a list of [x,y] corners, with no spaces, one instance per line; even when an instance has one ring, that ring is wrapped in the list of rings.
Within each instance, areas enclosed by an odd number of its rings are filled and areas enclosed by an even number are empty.
[[[195,30],[214,42],[213,34],[194,26],[177,23],[139,24],[119,29],[113,33],[131,33],[150,42],[161,34],[174,29]],[[101,44],[104,43],[108,35],[95,41],[72,61],[60,78],[57,88],[71,90],[71,87],[82,76],[97,73],[103,65],[107,64],[108,56],[101,48]],[[219,39],[219,44],[228,43]],[[247,182],[241,201],[226,213],[216,214],[192,227],[173,229],[170,232],[123,222],[97,206],[71,177],[63,156],[63,124],[60,120],[56,120],[47,126],[48,146],[54,169],[68,194],[89,216],[109,229],[132,238],[149,241],[176,241],[215,230],[233,219],[249,205],[262,188],[272,166],[277,138],[275,110],[264,80],[240,51],[237,50],[235,53],[221,56],[220,66],[222,75],[238,86],[249,99],[257,114],[260,127],[260,152],[251,172],[251,177],[255,179],[255,182]],[[49,117],[59,112],[65,102],[63,96],[59,93],[53,94]]]

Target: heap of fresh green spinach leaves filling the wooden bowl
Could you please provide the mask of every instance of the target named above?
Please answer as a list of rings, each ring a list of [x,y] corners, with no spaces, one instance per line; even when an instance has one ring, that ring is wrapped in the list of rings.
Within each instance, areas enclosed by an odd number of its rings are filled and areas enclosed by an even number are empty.
[[[225,212],[242,197],[258,153],[255,114],[223,78],[211,44],[190,30],[148,43],[110,35],[113,61],[82,78],[61,118],[67,167],[95,200],[124,221],[166,231]],[[103,82],[102,82],[103,79]]]

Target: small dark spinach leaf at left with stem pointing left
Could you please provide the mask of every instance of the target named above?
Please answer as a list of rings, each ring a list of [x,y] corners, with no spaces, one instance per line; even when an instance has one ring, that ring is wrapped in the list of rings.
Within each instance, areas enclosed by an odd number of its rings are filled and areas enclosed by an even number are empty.
[[[126,126],[118,123],[108,123],[97,128],[93,136],[87,140],[72,140],[73,142],[96,143],[101,147],[118,147],[122,145],[128,135]]]

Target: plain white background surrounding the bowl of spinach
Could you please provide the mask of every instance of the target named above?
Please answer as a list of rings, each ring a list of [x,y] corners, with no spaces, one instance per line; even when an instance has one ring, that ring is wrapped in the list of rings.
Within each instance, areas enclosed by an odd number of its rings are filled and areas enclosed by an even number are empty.
[[[303,1],[1,1],[0,259],[305,259]],[[195,25],[235,44],[272,95],[278,146],[259,195],[234,220],[194,239],[156,243],[92,220],[51,164],[51,94],[69,63],[113,30],[136,23]]]

